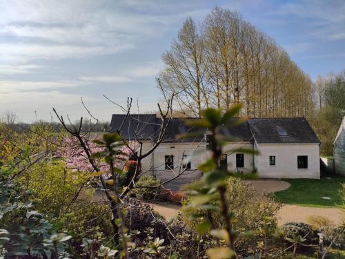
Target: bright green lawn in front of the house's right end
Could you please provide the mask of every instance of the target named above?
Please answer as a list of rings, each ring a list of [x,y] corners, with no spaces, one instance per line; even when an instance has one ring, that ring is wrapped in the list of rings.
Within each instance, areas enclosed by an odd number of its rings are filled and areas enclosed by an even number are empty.
[[[331,177],[331,179],[293,179],[284,180],[291,186],[274,194],[277,201],[285,204],[296,204],[304,207],[340,207],[342,200],[339,189],[345,182],[343,177]],[[329,197],[331,200],[322,199]]]

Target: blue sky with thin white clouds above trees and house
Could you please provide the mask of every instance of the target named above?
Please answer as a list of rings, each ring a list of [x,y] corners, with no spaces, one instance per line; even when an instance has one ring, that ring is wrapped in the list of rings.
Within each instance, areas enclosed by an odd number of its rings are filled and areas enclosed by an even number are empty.
[[[311,79],[345,69],[345,1],[0,0],[0,117],[109,121],[133,99],[133,113],[157,111],[161,55],[188,17],[215,6],[236,10],[285,48]]]

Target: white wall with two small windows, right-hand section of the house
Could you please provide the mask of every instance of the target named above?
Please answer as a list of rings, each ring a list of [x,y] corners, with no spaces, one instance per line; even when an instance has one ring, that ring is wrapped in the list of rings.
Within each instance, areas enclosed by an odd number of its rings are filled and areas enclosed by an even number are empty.
[[[258,144],[260,178],[320,178],[319,144]],[[275,166],[269,156],[275,155]],[[297,169],[297,156],[308,156],[308,169]]]

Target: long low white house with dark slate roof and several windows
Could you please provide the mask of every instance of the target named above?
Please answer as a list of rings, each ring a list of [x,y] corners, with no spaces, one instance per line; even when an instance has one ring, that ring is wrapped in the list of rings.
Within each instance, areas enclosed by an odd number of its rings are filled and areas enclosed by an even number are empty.
[[[112,115],[110,131],[119,131],[126,140],[141,140],[143,150],[148,150],[157,139],[161,119],[156,115]],[[176,135],[201,131],[200,137],[177,139]],[[319,140],[305,118],[257,118],[248,119],[235,128],[224,128],[224,134],[234,137],[224,147],[254,148],[259,155],[224,153],[221,166],[238,173],[257,172],[259,178],[316,178],[320,177]],[[208,157],[206,129],[188,127],[183,119],[173,118],[168,124],[162,142],[142,161],[142,171],[173,181],[177,188],[182,183],[200,177],[197,166]],[[192,156],[188,164],[184,157]],[[171,186],[171,183],[170,183]]]

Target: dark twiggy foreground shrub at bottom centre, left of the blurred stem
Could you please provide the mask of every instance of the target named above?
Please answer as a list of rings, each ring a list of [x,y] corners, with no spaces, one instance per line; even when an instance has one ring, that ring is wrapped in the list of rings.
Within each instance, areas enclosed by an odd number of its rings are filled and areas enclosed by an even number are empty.
[[[163,245],[166,247],[159,258],[202,258],[206,249],[215,246],[215,240],[199,236],[181,218],[167,222],[148,204],[130,199],[125,204],[125,224],[137,247],[130,252],[131,258],[141,258],[143,253],[139,248],[147,247],[150,240],[155,238],[164,239]],[[171,255],[175,257],[170,257]]]

